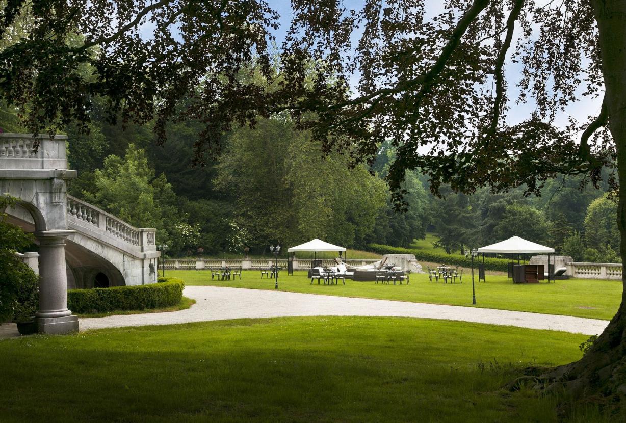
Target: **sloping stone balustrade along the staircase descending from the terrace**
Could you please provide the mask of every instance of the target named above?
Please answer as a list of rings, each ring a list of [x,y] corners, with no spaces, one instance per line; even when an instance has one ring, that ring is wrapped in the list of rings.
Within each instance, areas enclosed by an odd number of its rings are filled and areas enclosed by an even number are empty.
[[[78,224],[88,235],[102,236],[113,243],[140,252],[156,251],[155,229],[138,229],[71,195],[67,196],[68,223]]]

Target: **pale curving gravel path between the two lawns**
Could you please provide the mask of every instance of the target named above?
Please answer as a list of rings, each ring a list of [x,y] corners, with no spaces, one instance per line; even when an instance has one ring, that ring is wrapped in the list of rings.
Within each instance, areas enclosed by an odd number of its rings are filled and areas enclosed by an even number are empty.
[[[80,319],[80,329],[171,325],[207,320],[289,316],[392,316],[463,320],[573,334],[598,335],[607,320],[540,313],[511,312],[493,308],[458,307],[369,298],[334,297],[310,293],[225,287],[185,287],[185,296],[196,304],[188,310]]]

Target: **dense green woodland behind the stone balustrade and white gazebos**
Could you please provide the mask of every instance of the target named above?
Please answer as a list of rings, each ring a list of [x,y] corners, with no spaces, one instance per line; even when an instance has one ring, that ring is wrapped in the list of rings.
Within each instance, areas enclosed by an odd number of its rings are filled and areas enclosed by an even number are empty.
[[[22,130],[16,111],[3,107],[0,116],[4,131]],[[619,258],[608,186],[581,189],[575,176],[548,181],[540,197],[523,196],[523,188],[465,195],[444,187],[439,198],[426,177],[408,171],[409,210],[396,213],[385,182],[395,154],[391,142],[371,166],[349,169],[344,155],[322,155],[307,133],[277,116],[228,133],[220,151],[198,161],[193,121],[170,124],[168,141],[159,146],[149,126],[110,125],[97,109],[91,118],[89,135],[66,130],[71,168],[79,175],[69,193],[135,227],[157,228],[168,255],[203,248],[220,257],[245,247],[262,254],[270,243],[316,237],[362,250],[369,243],[409,247],[434,232],[436,246],[448,253],[518,235],[577,261]]]

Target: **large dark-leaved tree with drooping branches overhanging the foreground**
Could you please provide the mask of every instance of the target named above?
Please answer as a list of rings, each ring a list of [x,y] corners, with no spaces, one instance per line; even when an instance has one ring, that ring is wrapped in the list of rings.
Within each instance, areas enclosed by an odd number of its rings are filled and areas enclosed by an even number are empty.
[[[406,170],[417,168],[428,173],[434,193],[449,184],[465,193],[523,185],[538,194],[558,173],[598,184],[603,165],[612,163],[613,186],[626,180],[625,2],[453,0],[432,19],[419,1],[364,3],[348,11],[338,1],[294,1],[282,83],[269,89],[238,78],[252,72],[246,66],[253,61],[264,78],[274,78],[267,41],[277,16],[263,1],[34,0],[29,36],[0,52],[0,99],[28,106],[26,125],[34,131],[73,118],[85,123],[93,96],[109,96],[108,111],[124,121],[156,114],[159,140],[168,117],[197,116],[205,125],[199,156],[218,148],[232,121],[254,125],[257,116],[281,111],[309,129],[322,151],[348,151],[352,165],[372,160],[391,139],[398,151],[387,182],[399,210],[406,210]],[[27,3],[6,4],[3,33]],[[135,34],[148,15],[155,30],[146,40]],[[355,27],[364,30],[352,48]],[[67,43],[69,35],[82,43]],[[505,78],[507,59],[523,68],[519,99],[535,103],[528,118],[511,124],[506,115],[516,93]],[[95,80],[77,73],[84,63],[96,69]],[[351,90],[354,71],[359,83]],[[197,101],[176,112],[177,99],[196,85]],[[556,128],[555,118],[583,94],[603,96],[597,116]],[[626,190],[618,199],[625,257]],[[583,359],[535,380],[619,404],[625,349],[626,289]]]

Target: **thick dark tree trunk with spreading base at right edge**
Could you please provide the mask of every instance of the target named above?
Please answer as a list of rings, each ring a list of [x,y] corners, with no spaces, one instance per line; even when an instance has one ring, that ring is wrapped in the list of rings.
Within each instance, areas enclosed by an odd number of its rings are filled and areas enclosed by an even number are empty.
[[[626,1],[592,0],[598,24],[609,128],[617,148],[620,189],[617,224],[622,263],[626,258]],[[626,272],[622,273],[626,287]],[[609,408],[626,410],[626,292],[607,329],[582,359],[538,377],[536,387],[561,390]]]

